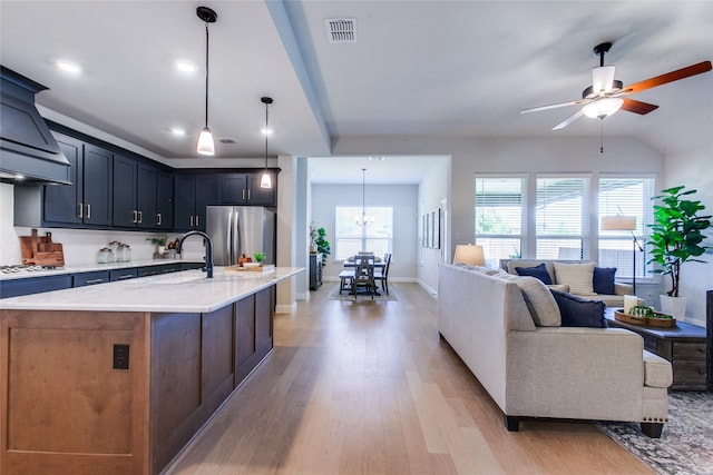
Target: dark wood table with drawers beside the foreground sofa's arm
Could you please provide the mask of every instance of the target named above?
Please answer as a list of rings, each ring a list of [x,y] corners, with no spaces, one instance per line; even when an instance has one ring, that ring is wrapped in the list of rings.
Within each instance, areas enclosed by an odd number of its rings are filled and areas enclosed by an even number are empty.
[[[676,321],[673,328],[632,325],[614,318],[614,308],[607,308],[607,323],[613,328],[626,328],[644,338],[644,348],[671,362],[671,389],[706,390],[705,328]]]

